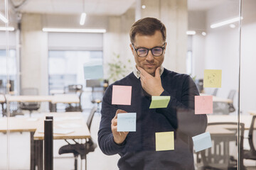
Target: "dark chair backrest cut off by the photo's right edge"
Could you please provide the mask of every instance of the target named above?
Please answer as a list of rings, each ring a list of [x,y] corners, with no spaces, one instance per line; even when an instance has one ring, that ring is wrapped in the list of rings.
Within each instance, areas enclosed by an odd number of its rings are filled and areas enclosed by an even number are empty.
[[[250,152],[256,155],[256,115],[252,116],[252,123],[250,125],[249,130],[249,145],[250,145]]]

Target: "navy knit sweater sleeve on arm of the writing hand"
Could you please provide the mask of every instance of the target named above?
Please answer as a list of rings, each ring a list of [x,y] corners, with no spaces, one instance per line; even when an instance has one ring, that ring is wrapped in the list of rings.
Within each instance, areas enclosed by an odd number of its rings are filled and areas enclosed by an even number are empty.
[[[107,155],[118,154],[125,146],[124,141],[122,145],[117,145],[114,142],[114,137],[111,130],[111,120],[117,111],[117,108],[111,104],[112,88],[111,86],[105,91],[102,99],[102,111],[100,130],[98,132],[98,144],[103,153]]]

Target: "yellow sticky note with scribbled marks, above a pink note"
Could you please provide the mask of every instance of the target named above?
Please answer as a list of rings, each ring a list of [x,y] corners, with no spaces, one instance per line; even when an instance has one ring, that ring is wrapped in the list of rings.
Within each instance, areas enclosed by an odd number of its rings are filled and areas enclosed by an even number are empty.
[[[203,87],[221,87],[221,69],[205,69],[203,73]]]

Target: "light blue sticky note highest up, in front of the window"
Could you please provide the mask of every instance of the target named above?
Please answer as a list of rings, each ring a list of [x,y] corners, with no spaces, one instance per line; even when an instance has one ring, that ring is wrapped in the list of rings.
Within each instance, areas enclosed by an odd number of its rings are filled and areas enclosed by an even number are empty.
[[[102,63],[90,62],[83,66],[84,78],[85,79],[102,79],[103,78],[103,67]]]

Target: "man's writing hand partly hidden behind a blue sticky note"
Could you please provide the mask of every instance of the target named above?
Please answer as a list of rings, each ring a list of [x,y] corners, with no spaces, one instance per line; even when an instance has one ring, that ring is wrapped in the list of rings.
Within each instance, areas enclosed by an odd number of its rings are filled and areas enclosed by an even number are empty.
[[[124,142],[129,132],[117,132],[117,114],[118,113],[127,113],[127,112],[122,111],[121,109],[117,110],[116,115],[114,115],[114,118],[111,121],[111,130],[113,133],[114,142],[117,144],[122,144],[122,142]]]

